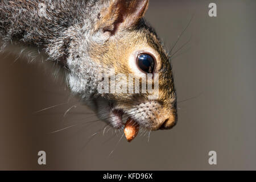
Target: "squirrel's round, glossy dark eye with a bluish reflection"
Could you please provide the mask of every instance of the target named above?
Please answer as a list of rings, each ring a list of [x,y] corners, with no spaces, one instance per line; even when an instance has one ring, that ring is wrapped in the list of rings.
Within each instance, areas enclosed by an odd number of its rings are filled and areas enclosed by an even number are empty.
[[[155,68],[155,60],[148,54],[141,54],[137,58],[139,69],[145,73],[153,73]]]

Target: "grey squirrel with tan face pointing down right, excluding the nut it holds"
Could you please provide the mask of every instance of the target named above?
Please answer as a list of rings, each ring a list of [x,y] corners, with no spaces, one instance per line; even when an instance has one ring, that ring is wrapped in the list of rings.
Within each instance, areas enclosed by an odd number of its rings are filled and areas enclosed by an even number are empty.
[[[143,15],[148,0],[0,1],[1,48],[35,46],[65,72],[71,92],[106,123],[124,127],[123,115],[148,130],[171,129],[177,99],[170,56]],[[159,74],[159,93],[98,93],[98,75]]]

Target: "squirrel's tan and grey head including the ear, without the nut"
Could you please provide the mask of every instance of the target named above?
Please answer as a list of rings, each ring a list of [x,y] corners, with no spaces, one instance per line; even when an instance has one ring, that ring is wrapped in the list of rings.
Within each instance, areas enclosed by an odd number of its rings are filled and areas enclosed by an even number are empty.
[[[92,15],[93,24],[80,25],[70,44],[67,82],[72,92],[117,129],[123,127],[125,117],[149,130],[170,129],[177,121],[170,57],[143,18],[147,7],[148,0],[104,2]],[[133,84],[133,93],[128,89],[131,75],[139,80],[139,89],[135,92]],[[153,92],[142,93],[145,80],[152,84]],[[104,81],[106,85],[102,85]],[[108,86],[108,93],[99,92]],[[157,97],[149,98],[156,93]]]

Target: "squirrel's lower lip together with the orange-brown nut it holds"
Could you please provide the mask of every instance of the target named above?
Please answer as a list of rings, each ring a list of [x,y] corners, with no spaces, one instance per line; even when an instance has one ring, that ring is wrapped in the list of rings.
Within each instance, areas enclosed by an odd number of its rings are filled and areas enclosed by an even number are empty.
[[[139,123],[130,117],[128,117],[125,122],[125,120],[123,120],[123,114],[125,113],[122,109],[112,110],[112,125],[114,128],[123,129],[127,141],[131,142],[139,132]]]

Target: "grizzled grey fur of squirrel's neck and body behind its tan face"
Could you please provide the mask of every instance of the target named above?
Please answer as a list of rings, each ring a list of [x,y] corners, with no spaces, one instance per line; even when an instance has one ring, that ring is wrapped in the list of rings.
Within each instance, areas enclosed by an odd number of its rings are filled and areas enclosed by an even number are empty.
[[[46,53],[48,60],[64,60],[70,69],[67,81],[72,92],[88,97],[95,91],[96,82],[87,80],[95,80],[98,65],[90,60],[86,50],[93,39],[90,30],[104,3],[101,0],[0,1],[2,49],[10,42],[34,45]]]

